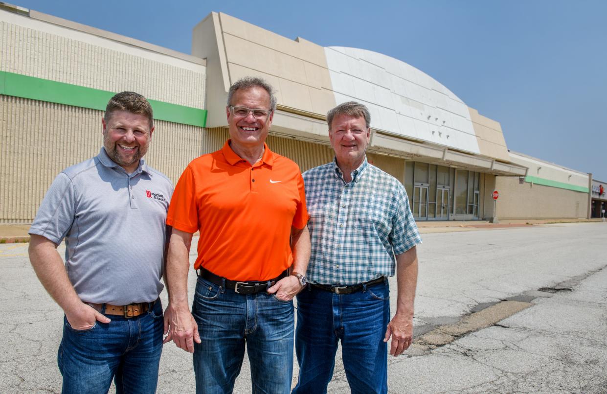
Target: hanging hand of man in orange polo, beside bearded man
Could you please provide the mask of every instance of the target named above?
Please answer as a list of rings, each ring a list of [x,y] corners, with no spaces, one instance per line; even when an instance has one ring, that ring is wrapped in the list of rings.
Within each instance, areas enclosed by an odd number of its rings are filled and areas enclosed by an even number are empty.
[[[200,335],[198,335],[198,324],[190,313],[188,305],[174,307],[169,302],[164,311],[164,334],[166,338],[162,341],[163,344],[172,340],[175,342],[175,346],[190,353],[194,353],[194,341],[197,344],[201,342]]]

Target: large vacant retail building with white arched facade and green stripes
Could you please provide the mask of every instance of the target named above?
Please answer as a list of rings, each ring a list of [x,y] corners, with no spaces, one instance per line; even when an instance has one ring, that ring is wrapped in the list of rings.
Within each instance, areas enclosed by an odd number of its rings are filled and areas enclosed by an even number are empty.
[[[333,159],[327,110],[367,105],[368,160],[404,183],[418,220],[490,219],[495,189],[500,219],[591,215],[590,174],[510,152],[498,121],[403,61],[288,39],[223,13],[193,33],[186,55],[0,4],[0,223],[30,223],[55,175],[97,154],[107,100],[123,90],[151,101],[146,160],[177,182],[228,138],[227,91],[246,75],[277,90],[267,142],[302,171]]]

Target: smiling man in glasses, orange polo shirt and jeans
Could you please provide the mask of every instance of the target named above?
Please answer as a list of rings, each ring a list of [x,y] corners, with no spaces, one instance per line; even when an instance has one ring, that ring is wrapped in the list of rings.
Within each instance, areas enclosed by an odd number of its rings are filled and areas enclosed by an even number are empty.
[[[188,165],[169,206],[164,342],[194,353],[197,392],[232,392],[245,342],[253,391],[291,388],[292,300],[305,285],[310,236],[299,167],[265,144],[275,108],[265,81],[234,83],[226,107],[230,139]],[[196,231],[190,313],[188,255]]]

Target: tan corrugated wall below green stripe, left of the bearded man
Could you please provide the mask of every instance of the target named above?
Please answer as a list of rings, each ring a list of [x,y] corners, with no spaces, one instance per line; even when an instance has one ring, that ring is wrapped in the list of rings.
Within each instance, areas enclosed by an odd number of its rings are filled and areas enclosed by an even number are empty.
[[[0,219],[28,223],[59,171],[97,154],[101,112],[4,95],[0,109]]]

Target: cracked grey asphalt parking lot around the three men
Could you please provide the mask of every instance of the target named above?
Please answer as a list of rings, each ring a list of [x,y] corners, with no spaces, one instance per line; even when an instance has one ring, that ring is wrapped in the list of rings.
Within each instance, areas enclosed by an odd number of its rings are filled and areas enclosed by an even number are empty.
[[[423,237],[415,343],[388,356],[391,393],[607,392],[607,223]],[[0,392],[58,393],[63,313],[27,246],[0,245]],[[194,282],[192,271],[190,297]],[[245,358],[234,392],[251,392],[248,368]],[[160,371],[159,393],[194,392],[188,353],[165,345]],[[329,392],[349,392],[339,352]]]

